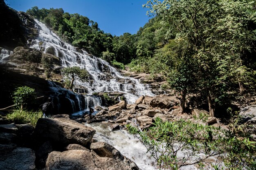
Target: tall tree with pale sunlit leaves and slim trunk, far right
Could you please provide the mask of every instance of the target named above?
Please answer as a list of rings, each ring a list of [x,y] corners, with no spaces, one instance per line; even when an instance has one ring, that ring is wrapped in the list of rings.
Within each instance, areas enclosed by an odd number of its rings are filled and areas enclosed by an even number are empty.
[[[170,26],[168,32],[175,35],[178,44],[188,44],[183,58],[196,61],[198,69],[194,78],[198,84],[194,85],[197,93],[207,98],[210,115],[214,116],[216,105],[223,104],[224,96],[234,87],[235,78],[231,74],[242,66],[244,52],[255,49],[251,43],[256,38],[255,29],[249,27],[256,23],[253,3],[245,0],[149,0],[144,7],[150,9],[149,15],[163,15]],[[191,69],[190,63],[183,63],[188,64],[187,70]],[[178,87],[179,82],[173,85]]]

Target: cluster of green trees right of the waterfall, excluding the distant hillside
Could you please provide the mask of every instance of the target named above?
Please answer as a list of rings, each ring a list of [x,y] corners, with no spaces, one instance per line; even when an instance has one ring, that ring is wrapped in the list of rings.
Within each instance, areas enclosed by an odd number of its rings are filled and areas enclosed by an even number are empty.
[[[204,99],[214,115],[238,84],[240,92],[245,86],[254,88],[253,71],[243,65],[245,55],[255,55],[253,5],[240,0],[149,0],[144,7],[149,15],[164,18],[169,40],[155,51],[150,72],[165,74],[182,99],[188,94]]]

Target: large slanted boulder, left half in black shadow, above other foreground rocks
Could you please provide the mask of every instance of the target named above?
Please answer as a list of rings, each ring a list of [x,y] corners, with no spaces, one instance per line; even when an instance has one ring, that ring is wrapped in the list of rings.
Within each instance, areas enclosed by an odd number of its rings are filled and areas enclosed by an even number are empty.
[[[55,118],[39,118],[34,134],[40,141],[51,141],[56,146],[67,146],[68,144],[79,144],[86,146],[91,142],[95,130],[84,126],[76,121]]]

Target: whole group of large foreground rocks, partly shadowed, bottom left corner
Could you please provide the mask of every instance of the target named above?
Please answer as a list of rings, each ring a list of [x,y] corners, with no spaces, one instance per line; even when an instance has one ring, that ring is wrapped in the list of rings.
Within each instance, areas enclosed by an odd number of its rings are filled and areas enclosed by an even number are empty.
[[[93,128],[56,117],[38,119],[36,128],[1,125],[0,169],[139,170],[113,146],[92,143]]]

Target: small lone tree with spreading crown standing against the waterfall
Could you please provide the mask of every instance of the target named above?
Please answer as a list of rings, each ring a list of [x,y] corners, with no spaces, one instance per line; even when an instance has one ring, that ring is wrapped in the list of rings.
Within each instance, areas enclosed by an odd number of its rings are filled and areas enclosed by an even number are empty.
[[[70,84],[68,88],[71,91],[73,91],[73,84],[75,79],[85,80],[86,78],[89,77],[88,71],[80,68],[79,66],[62,68],[61,72],[64,76],[67,77],[68,80],[70,80]]]

